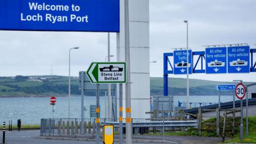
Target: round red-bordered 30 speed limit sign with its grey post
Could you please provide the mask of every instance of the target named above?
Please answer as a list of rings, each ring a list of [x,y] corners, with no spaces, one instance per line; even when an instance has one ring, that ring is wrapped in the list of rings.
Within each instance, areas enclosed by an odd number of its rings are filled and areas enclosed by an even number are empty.
[[[236,97],[241,99],[241,124],[240,124],[240,139],[243,140],[243,98],[246,94],[246,88],[243,83],[236,85]]]

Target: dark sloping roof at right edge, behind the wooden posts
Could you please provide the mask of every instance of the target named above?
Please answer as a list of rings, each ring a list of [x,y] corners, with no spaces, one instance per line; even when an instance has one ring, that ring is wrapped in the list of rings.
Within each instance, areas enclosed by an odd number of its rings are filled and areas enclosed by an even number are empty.
[[[241,105],[240,100],[235,101],[235,107],[240,107],[240,105]],[[248,106],[251,106],[251,105],[256,105],[256,98],[248,99]],[[246,106],[246,99],[243,100],[243,106]],[[202,108],[203,109],[216,109],[218,107],[219,107],[219,104],[215,104],[215,105],[210,105],[210,106],[203,106]],[[221,109],[233,108],[233,101],[221,103],[220,108]],[[184,111],[185,111],[185,113],[197,114],[198,113],[198,107],[197,108],[192,108],[192,109],[185,109]]]

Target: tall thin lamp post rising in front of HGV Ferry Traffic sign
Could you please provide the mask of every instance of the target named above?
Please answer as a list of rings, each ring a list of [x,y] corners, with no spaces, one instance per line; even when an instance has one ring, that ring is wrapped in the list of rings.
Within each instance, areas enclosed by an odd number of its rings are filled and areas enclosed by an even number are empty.
[[[189,69],[188,69],[188,20],[184,20],[187,24],[187,109],[189,108]],[[189,119],[189,115],[187,116]]]

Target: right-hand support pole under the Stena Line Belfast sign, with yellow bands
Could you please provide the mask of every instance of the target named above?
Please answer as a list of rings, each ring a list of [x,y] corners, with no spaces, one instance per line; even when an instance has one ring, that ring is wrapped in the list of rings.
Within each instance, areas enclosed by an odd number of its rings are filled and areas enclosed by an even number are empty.
[[[119,143],[123,143],[123,84],[119,84]]]

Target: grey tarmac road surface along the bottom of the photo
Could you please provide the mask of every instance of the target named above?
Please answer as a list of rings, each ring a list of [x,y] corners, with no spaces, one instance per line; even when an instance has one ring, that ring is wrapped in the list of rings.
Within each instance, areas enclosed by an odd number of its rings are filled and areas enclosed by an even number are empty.
[[[6,132],[5,143],[10,144],[94,144],[94,139],[89,138],[62,138],[62,137],[41,137],[39,136],[38,130],[22,130]],[[2,132],[0,132],[0,142],[2,142]],[[100,143],[103,143],[100,141]],[[114,143],[119,143],[115,140]],[[125,143],[125,142],[124,142]],[[164,140],[162,137],[155,136],[142,136],[133,138],[133,143],[180,143],[180,144],[211,144],[221,143],[221,138],[216,137],[185,137],[185,136],[165,136]]]

